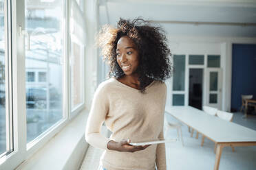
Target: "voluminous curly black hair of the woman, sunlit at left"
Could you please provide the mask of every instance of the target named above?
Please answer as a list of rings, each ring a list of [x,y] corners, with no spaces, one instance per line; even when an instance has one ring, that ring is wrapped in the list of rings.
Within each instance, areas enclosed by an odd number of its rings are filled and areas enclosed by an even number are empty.
[[[131,38],[138,49],[136,73],[141,93],[145,93],[145,87],[153,80],[164,82],[171,77],[171,51],[165,33],[161,27],[151,26],[149,21],[143,19],[120,19],[117,28],[105,25],[100,29],[98,45],[102,47],[104,60],[110,64],[109,77],[113,75],[119,79],[125,75],[116,60],[117,42],[122,36]]]

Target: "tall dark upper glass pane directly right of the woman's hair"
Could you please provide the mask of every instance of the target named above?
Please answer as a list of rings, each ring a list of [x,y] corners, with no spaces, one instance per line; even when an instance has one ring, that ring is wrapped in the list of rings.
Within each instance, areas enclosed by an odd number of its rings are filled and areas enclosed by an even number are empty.
[[[184,90],[185,87],[185,56],[173,56],[173,90]]]

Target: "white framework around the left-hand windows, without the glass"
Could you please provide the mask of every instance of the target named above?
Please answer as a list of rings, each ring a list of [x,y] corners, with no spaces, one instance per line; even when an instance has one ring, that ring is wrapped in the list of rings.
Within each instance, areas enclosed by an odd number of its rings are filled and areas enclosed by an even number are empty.
[[[10,154],[0,158],[0,169],[15,169],[21,162],[30,158],[32,154],[38,151],[47,141],[59,132],[63,127],[70,123],[70,121],[76,116],[76,114],[71,113],[70,107],[70,69],[69,69],[69,5],[70,1],[63,0],[63,12],[65,17],[65,22],[63,22],[63,27],[65,27],[65,32],[63,35],[63,55],[64,60],[61,61],[63,64],[63,119],[55,123],[54,126],[50,127],[48,130],[43,132],[43,134],[36,137],[32,142],[27,143],[26,136],[26,105],[25,105],[25,42],[23,29],[25,27],[25,0],[5,0],[5,2],[12,2],[12,12],[10,11],[10,6],[7,12],[11,14],[12,18],[12,43],[9,41],[9,45],[12,45],[12,57],[9,57],[9,60],[6,63],[12,61],[12,70],[11,66],[8,66],[8,71],[6,74],[12,73],[8,79],[8,91],[9,95],[12,96],[10,99],[6,99],[6,104],[10,106],[6,112],[10,113],[8,115],[10,118],[13,117],[13,125],[10,126],[10,132],[13,131],[13,147],[14,151]],[[5,3],[6,4],[6,3]],[[83,14],[83,13],[82,13]],[[84,17],[83,17],[84,18]],[[7,27],[7,26],[6,26]],[[8,29],[6,29],[8,30]],[[83,58],[84,59],[84,58]],[[7,60],[7,58],[6,58]],[[11,63],[11,62],[10,62]],[[85,64],[85,63],[83,63]],[[83,66],[84,68],[84,66]],[[83,77],[85,73],[83,72]],[[6,81],[7,82],[7,81]],[[83,81],[84,82],[84,81]],[[11,86],[12,84],[12,86]],[[85,99],[85,94],[83,93],[83,99]],[[9,101],[12,101],[9,103]],[[72,112],[78,113],[81,109],[85,107],[85,104]],[[13,113],[13,114],[12,114]],[[19,113],[19,114],[18,114]],[[11,121],[10,121],[11,122]],[[13,128],[13,129],[12,129]],[[12,139],[12,138],[11,138]],[[12,141],[10,141],[12,143]]]

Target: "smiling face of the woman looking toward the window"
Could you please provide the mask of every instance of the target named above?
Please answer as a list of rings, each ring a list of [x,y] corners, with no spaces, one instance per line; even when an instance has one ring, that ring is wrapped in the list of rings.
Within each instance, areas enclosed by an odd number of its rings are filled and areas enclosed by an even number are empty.
[[[125,75],[134,75],[139,64],[138,49],[128,36],[122,36],[116,47],[116,60]]]

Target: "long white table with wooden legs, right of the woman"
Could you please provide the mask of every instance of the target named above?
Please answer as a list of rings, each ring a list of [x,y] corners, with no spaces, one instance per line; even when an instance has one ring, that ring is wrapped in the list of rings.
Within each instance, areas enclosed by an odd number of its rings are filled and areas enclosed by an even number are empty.
[[[224,121],[191,106],[171,106],[165,111],[217,144],[214,170],[219,169],[223,147],[255,146],[256,131]]]

